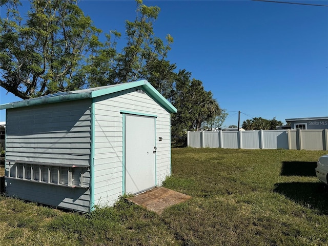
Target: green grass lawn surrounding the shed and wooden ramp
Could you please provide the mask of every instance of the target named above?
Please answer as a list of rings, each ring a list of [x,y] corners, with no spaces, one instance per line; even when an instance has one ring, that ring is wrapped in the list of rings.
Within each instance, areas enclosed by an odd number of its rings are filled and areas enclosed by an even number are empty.
[[[127,202],[91,214],[0,197],[0,245],[328,245],[325,151],[172,149],[161,215]]]

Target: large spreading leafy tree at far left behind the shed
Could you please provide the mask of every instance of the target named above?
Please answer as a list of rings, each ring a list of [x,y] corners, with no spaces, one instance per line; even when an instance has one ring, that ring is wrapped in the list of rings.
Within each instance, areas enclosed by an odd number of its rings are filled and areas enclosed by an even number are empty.
[[[83,88],[74,75],[100,30],[74,0],[31,0],[26,20],[20,5],[1,1],[0,85],[23,99]]]

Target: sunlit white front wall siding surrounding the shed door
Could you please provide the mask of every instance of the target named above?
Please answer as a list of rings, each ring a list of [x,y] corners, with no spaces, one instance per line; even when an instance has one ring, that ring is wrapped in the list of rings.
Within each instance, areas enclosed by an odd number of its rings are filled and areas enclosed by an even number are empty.
[[[122,92],[97,98],[95,103],[95,203],[111,206],[122,195],[123,126],[121,110],[157,115],[156,179],[157,185],[171,175],[170,113],[147,94]],[[115,96],[115,97],[114,97]],[[137,131],[138,129],[136,129]],[[162,137],[162,141],[158,140]]]

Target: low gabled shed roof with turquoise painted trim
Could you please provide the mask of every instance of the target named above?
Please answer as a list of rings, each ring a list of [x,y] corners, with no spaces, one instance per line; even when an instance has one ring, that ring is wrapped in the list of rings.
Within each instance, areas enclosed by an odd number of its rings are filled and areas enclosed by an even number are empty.
[[[95,98],[99,96],[109,95],[115,92],[121,92],[132,88],[139,88],[144,90],[153,100],[161,107],[165,108],[170,113],[176,113],[176,108],[163,97],[147,80],[139,80],[124,84],[117,84],[111,86],[95,87],[84,90],[59,92],[47,96],[40,96],[36,98],[26,99],[22,101],[15,101],[13,103],[0,105],[1,109],[12,109],[20,107],[28,107],[41,104],[59,103],[62,101],[79,100],[85,98]]]

